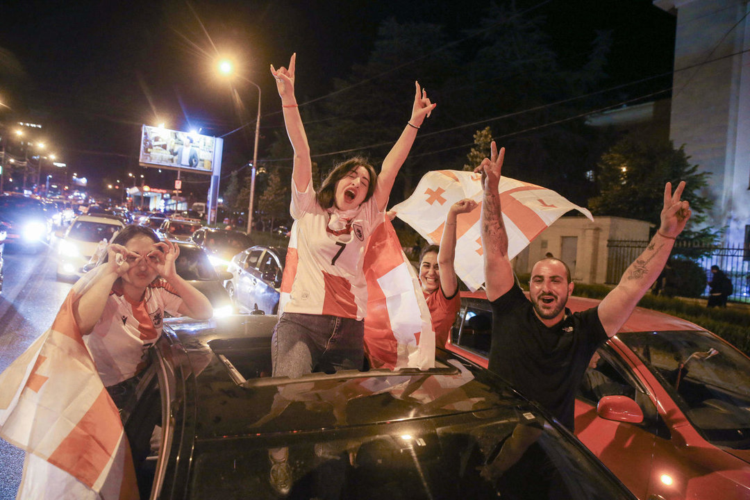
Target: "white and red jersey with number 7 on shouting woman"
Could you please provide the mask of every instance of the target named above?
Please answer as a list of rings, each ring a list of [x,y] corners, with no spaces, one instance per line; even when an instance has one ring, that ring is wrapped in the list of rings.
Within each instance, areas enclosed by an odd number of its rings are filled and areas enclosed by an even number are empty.
[[[362,264],[368,239],[385,213],[375,197],[360,205],[344,229],[329,228],[331,214],[321,208],[310,181],[305,192],[292,181],[290,235],[279,311],[363,319],[368,288]]]

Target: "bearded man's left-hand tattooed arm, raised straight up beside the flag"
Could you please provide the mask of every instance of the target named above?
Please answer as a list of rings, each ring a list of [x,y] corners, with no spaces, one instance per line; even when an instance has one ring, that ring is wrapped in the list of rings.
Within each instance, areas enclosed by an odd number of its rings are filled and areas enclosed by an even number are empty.
[[[481,204],[481,246],[484,251],[484,288],[487,298],[495,300],[513,286],[513,268],[508,259],[508,233],[500,210],[500,171],[505,148],[497,151],[493,141],[490,158],[484,158],[474,172],[481,172],[484,197]]]

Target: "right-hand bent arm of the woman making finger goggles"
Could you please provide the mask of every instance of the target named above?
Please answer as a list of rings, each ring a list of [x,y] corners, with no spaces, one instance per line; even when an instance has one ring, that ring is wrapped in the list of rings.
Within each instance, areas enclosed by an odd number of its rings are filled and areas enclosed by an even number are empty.
[[[148,253],[148,265],[154,268],[159,276],[163,277],[166,283],[169,283],[182,299],[182,305],[178,309],[178,313],[194,319],[211,319],[211,316],[214,315],[214,308],[211,307],[208,298],[177,274],[175,261],[180,255],[180,247],[172,241],[163,241],[155,244],[154,247],[159,250]]]

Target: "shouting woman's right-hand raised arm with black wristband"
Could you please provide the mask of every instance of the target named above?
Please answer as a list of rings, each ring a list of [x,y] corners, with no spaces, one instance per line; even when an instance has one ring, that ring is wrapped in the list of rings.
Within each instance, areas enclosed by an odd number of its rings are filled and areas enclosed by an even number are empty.
[[[377,175],[377,186],[375,187],[375,201],[380,211],[386,210],[391,189],[396,180],[396,175],[407,160],[409,151],[414,144],[417,136],[417,130],[422,126],[437,104],[431,103],[427,97],[427,91],[419,87],[419,82],[414,82],[416,92],[414,94],[414,104],[412,106],[412,116],[401,132],[401,136],[396,141],[391,151],[383,160],[383,168]]]

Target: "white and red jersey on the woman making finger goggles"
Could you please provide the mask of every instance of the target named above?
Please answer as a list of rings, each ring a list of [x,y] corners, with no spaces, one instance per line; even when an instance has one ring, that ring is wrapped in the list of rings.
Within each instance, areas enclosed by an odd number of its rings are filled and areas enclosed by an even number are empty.
[[[148,285],[139,302],[113,287],[104,313],[92,333],[83,337],[105,387],[139,373],[145,350],[161,336],[164,311],[179,316],[181,304],[175,289],[162,279]]]

